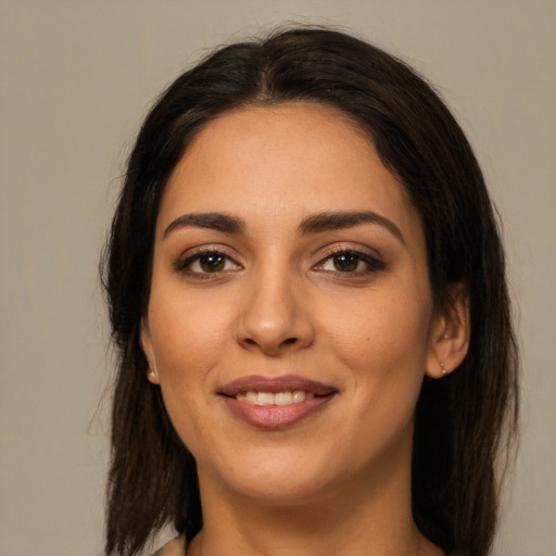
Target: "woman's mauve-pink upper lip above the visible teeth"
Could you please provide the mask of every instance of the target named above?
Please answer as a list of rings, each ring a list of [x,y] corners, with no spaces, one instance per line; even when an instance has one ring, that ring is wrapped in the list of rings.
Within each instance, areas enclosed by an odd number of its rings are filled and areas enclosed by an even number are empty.
[[[252,375],[250,377],[242,377],[227,384],[224,384],[218,393],[227,396],[236,396],[249,391],[254,392],[288,392],[303,390],[304,392],[312,392],[315,395],[329,395],[338,391],[332,386],[324,384],[317,380],[299,377],[296,375],[283,375],[281,377],[264,377],[261,375]]]

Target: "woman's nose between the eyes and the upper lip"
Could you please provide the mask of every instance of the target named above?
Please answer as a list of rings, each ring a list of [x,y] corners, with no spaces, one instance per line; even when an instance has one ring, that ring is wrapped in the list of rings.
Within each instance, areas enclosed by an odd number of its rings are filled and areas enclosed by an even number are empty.
[[[313,343],[309,303],[288,273],[267,269],[248,282],[237,330],[242,348],[279,356]]]

